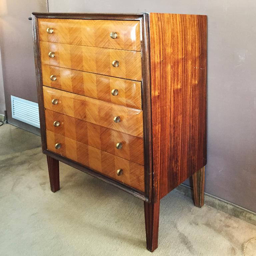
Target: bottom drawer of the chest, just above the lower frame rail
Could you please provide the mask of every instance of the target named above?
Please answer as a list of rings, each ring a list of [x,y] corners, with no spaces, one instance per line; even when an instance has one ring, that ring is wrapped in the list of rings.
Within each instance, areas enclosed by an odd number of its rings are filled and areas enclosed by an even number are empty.
[[[46,130],[47,149],[144,192],[144,166]],[[60,144],[56,149],[55,145]],[[122,169],[122,175],[117,170]]]

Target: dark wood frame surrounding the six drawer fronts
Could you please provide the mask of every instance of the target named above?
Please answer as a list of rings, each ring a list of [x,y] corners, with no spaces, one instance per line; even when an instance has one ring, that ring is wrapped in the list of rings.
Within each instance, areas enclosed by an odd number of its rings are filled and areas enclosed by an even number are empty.
[[[41,59],[39,46],[38,18],[58,18],[58,19],[97,19],[97,20],[138,20],[141,26],[141,57],[142,57],[142,110],[144,127],[144,170],[145,170],[145,192],[138,191],[128,185],[122,184],[110,177],[105,176],[93,169],[74,162],[66,157],[62,157],[47,150],[46,126],[43,101],[43,82],[41,75]],[[153,178],[152,178],[152,128],[151,128],[151,89],[150,89],[150,57],[149,57],[149,15],[142,14],[77,14],[77,13],[32,13],[34,54],[37,80],[37,94],[40,114],[42,150],[47,156],[68,164],[82,172],[88,173],[107,183],[110,183],[142,200],[151,202],[153,198]]]

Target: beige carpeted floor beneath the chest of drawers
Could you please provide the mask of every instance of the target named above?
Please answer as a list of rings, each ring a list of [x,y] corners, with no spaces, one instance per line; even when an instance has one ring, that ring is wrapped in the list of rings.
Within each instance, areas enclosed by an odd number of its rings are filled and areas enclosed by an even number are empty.
[[[12,146],[2,142],[8,134],[19,136]],[[52,193],[46,156],[33,148],[40,137],[3,125],[0,139],[1,256],[242,256],[256,237],[256,226],[207,205],[196,208],[173,190],[161,200],[159,247],[152,254],[141,200],[64,164],[61,190]],[[251,241],[246,255],[255,252]]]

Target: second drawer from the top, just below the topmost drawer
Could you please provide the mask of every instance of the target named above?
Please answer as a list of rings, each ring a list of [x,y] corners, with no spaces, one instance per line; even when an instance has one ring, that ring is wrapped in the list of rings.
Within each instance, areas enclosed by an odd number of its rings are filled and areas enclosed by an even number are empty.
[[[40,50],[42,64],[141,81],[141,52],[42,41]]]

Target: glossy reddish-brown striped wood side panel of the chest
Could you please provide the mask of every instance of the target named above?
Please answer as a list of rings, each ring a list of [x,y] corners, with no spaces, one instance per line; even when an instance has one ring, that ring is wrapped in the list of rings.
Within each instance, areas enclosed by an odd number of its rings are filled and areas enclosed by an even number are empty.
[[[150,13],[156,200],[206,164],[206,42],[206,16]]]

